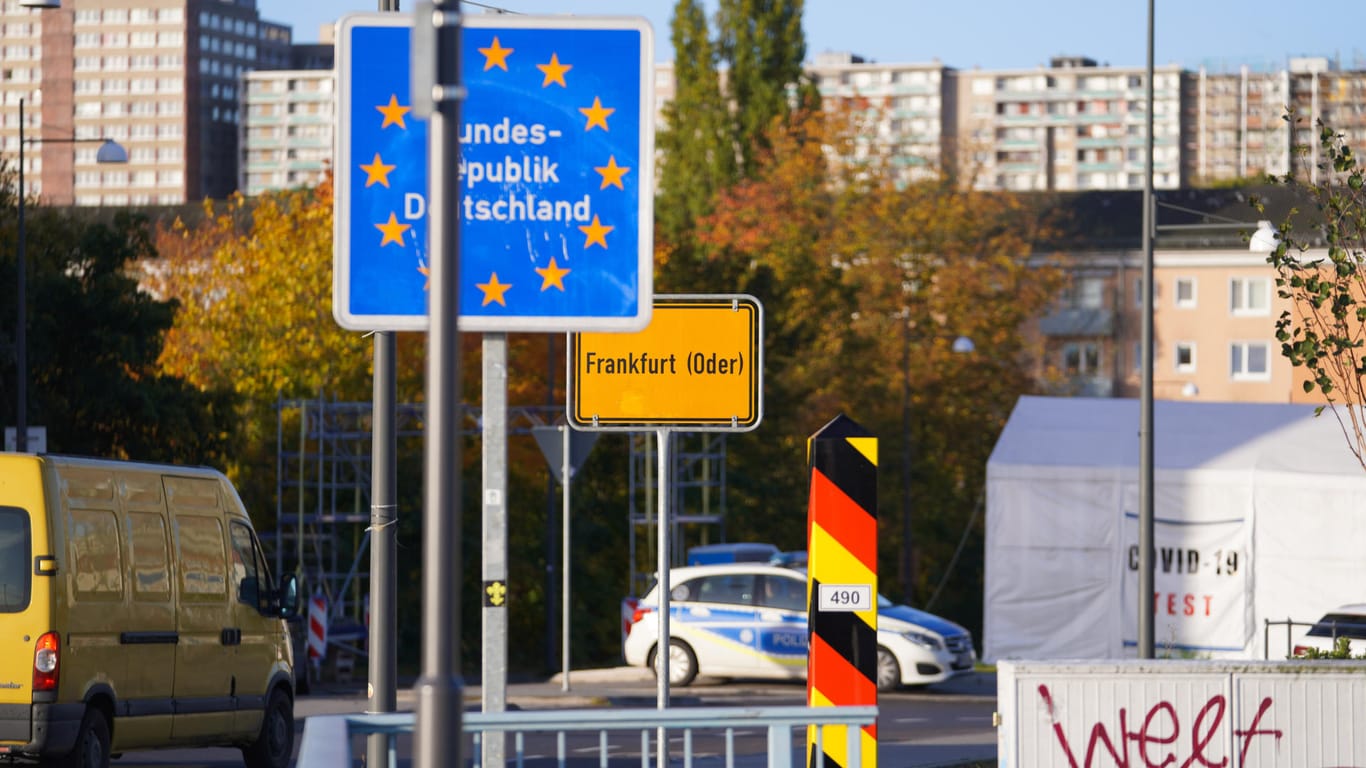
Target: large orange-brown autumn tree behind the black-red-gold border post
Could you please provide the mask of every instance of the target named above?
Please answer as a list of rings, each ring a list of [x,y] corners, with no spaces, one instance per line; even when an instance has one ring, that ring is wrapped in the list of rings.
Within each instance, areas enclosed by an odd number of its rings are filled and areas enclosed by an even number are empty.
[[[698,223],[714,273],[765,306],[765,422],[753,440],[731,441],[731,508],[744,518],[727,525],[800,545],[805,440],[844,413],[892,456],[880,471],[888,566],[902,541],[895,458],[907,439],[915,444],[922,567],[914,584],[896,586],[923,599],[974,521],[986,456],[1031,385],[1020,329],[1052,295],[1056,275],[1029,262],[1035,224],[1018,198],[947,179],[900,184],[891,157],[859,141],[870,120],[876,115],[832,109],[775,123],[755,178],[724,191]],[[960,335],[978,354],[952,353]],[[975,623],[981,599],[971,566],[949,599],[964,623]]]

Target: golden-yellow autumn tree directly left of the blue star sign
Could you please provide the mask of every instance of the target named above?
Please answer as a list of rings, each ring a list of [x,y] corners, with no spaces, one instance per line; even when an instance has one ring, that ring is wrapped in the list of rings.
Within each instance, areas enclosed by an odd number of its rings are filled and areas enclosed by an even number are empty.
[[[180,303],[160,365],[238,399],[229,474],[255,510],[276,507],[280,399],[369,400],[372,347],[332,317],[332,187],[206,201],[157,235],[145,271]],[[421,377],[417,339],[400,335],[400,392]]]

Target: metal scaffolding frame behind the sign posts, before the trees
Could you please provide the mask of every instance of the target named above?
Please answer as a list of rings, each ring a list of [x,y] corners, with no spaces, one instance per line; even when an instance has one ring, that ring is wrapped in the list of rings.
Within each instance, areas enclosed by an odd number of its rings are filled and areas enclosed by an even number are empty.
[[[370,592],[370,470],[373,403],[276,402],[276,526],[262,536],[276,573],[295,573],[305,594],[326,600],[328,646],[365,656]],[[464,406],[463,435],[479,435],[479,409]],[[508,436],[563,421],[561,404],[508,407]],[[423,406],[395,407],[399,440],[422,436]],[[630,432],[630,593],[650,586],[657,563],[656,432]],[[725,541],[725,435],[673,435],[672,552],[680,564],[694,544]],[[645,537],[643,548],[637,536]],[[302,630],[301,630],[302,631]],[[302,648],[302,637],[296,642]]]

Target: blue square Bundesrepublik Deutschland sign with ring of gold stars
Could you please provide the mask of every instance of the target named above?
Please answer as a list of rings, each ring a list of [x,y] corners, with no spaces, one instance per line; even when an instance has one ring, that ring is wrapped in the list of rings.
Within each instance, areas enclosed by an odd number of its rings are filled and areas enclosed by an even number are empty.
[[[641,18],[463,16],[455,210],[411,108],[411,16],[337,40],[332,313],[428,328],[428,221],[460,217],[460,331],[638,331],[653,306],[653,33]]]

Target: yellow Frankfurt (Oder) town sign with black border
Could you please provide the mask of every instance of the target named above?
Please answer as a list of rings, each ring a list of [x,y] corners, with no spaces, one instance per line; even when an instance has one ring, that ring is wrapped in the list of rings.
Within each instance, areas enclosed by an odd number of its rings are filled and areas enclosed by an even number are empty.
[[[750,295],[654,297],[637,333],[575,333],[568,420],[576,429],[747,432],[764,415],[764,307]]]

